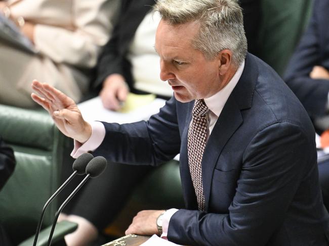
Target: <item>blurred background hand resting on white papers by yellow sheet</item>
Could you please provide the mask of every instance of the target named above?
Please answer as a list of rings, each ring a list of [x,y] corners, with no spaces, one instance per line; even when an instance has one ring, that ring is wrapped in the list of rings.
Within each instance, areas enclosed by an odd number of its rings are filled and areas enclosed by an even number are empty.
[[[129,93],[125,78],[120,74],[111,74],[103,82],[100,97],[104,108],[119,110],[121,103],[124,103]]]

